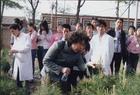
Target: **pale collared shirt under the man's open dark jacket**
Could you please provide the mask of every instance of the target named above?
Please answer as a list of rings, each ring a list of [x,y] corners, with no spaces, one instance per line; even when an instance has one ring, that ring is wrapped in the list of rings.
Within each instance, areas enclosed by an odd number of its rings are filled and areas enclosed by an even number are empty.
[[[120,43],[121,30],[115,29],[115,34],[116,34],[114,38],[115,52],[120,53],[121,52],[121,43]]]

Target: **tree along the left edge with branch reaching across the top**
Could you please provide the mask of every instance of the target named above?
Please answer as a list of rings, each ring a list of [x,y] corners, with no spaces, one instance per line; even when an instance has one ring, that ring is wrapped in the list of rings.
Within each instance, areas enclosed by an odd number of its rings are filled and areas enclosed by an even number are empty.
[[[1,39],[1,33],[2,33],[2,19],[3,19],[3,13],[5,7],[9,8],[19,8],[21,9],[22,6],[12,0],[0,0],[0,63],[1,63],[1,49],[2,49],[2,39]]]

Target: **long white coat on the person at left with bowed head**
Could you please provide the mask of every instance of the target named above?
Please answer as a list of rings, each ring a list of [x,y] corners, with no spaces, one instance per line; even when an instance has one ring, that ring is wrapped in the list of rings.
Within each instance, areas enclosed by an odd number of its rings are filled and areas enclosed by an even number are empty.
[[[15,53],[13,70],[14,79],[17,79],[18,68],[20,81],[33,79],[30,36],[21,32],[19,37],[14,39],[11,50],[18,51],[18,53]]]

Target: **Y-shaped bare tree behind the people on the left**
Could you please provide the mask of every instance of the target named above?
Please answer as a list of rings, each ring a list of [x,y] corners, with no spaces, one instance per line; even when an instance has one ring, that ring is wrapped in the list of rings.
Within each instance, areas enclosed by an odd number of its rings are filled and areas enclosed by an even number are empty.
[[[32,23],[35,24],[36,9],[39,4],[39,0],[28,0],[32,8]]]

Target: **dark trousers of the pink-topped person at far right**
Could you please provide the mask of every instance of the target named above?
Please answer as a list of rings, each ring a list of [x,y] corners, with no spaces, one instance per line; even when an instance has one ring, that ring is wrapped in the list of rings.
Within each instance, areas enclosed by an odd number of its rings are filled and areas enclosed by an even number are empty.
[[[128,73],[136,72],[138,60],[139,60],[138,54],[128,53],[128,59],[127,59],[127,72]]]

